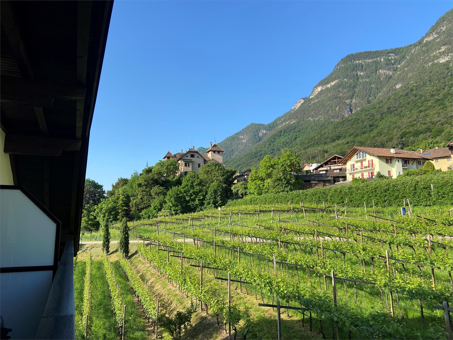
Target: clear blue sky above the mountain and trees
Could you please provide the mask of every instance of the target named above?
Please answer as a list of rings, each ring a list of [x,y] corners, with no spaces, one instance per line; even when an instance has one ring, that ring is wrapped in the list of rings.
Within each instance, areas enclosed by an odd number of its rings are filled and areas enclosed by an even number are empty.
[[[115,1],[87,177],[287,112],[349,53],[412,44],[451,1]]]

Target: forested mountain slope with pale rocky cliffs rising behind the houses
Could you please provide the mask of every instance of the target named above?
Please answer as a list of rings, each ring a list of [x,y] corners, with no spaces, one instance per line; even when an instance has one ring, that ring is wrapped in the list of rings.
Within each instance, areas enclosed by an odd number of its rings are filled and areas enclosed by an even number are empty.
[[[414,44],[342,58],[289,112],[220,142],[224,162],[245,169],[284,147],[313,161],[354,145],[415,149],[453,139],[452,23],[450,10]]]

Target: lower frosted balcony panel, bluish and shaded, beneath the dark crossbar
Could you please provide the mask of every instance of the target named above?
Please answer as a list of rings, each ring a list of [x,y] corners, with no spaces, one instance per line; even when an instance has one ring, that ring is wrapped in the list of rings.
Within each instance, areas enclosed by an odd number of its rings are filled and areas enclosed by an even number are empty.
[[[11,339],[34,339],[52,287],[52,271],[1,273],[0,287],[0,313],[5,327],[13,329]]]

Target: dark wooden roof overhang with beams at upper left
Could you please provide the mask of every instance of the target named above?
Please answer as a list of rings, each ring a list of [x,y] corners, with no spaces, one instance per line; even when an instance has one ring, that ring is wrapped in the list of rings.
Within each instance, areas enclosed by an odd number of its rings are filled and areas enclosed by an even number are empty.
[[[0,2],[0,123],[14,185],[77,253],[88,141],[113,1]]]

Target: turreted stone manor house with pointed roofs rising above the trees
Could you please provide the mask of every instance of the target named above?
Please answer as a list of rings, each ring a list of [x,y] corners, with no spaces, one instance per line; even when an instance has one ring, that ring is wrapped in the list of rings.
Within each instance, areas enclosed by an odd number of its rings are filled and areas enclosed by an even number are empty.
[[[201,152],[195,150],[195,146],[192,146],[186,152],[177,152],[172,154],[170,151],[164,156],[164,160],[174,159],[179,163],[179,174],[187,176],[190,171],[197,172],[207,162],[217,162],[223,165],[223,152],[224,150],[216,143],[209,143],[209,149],[206,150],[207,155],[203,155]]]

